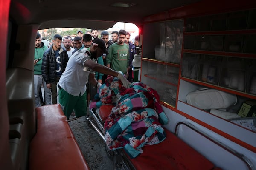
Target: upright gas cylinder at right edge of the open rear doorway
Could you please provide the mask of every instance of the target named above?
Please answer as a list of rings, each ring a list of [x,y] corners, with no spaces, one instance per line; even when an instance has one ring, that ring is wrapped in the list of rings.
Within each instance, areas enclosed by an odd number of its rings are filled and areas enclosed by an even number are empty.
[[[134,82],[140,81],[140,65],[141,65],[141,55],[140,47],[135,47],[136,54],[132,60],[132,71],[134,74]]]

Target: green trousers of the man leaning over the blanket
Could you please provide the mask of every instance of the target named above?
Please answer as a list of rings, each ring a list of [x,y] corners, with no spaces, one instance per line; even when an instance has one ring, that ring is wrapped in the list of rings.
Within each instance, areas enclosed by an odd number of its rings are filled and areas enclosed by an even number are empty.
[[[73,96],[64,89],[59,88],[59,103],[63,109],[65,116],[69,119],[73,110],[75,110],[76,117],[87,115],[87,95],[86,92],[79,96]]]

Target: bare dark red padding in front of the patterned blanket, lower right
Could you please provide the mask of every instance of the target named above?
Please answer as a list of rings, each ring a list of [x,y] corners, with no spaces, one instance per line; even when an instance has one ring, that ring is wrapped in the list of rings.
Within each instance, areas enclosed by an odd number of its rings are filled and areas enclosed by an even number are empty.
[[[143,147],[143,153],[130,159],[136,170],[212,170],[215,166],[169,130],[159,144]]]

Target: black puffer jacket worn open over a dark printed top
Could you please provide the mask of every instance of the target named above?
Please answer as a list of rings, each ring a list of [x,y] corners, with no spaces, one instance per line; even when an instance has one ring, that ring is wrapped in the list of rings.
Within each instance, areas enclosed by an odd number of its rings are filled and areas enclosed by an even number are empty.
[[[61,74],[65,71],[68,61],[67,51],[60,48]],[[55,82],[56,58],[52,45],[44,52],[42,62],[42,76],[46,84]]]

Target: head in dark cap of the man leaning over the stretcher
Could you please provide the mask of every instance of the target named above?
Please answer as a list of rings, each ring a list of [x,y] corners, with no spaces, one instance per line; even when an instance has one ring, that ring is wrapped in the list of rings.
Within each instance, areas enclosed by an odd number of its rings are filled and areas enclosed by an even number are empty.
[[[93,40],[93,44],[90,47],[90,51],[92,53],[93,58],[98,58],[102,56],[102,54],[109,54],[105,42],[102,39],[95,38]]]

